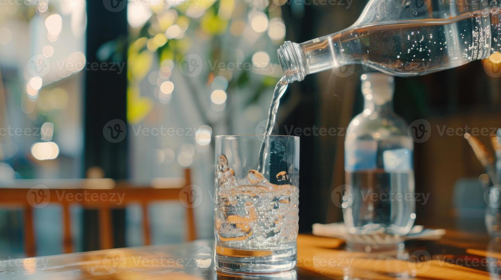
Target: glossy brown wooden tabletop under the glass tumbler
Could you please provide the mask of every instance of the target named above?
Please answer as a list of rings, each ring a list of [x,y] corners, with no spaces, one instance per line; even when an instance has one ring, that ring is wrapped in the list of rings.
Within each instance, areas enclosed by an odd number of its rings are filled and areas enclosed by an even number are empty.
[[[298,267],[273,279],[487,279],[501,270],[501,239],[447,230],[411,241],[400,256],[347,252],[336,238],[300,234]],[[410,256],[409,256],[410,255]],[[425,256],[424,258],[419,256]],[[421,258],[423,261],[415,261]],[[0,261],[2,279],[232,279],[213,266],[213,241],[107,249]],[[261,277],[254,277],[261,278]]]

